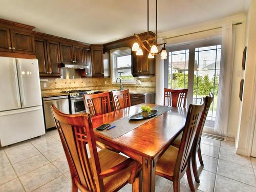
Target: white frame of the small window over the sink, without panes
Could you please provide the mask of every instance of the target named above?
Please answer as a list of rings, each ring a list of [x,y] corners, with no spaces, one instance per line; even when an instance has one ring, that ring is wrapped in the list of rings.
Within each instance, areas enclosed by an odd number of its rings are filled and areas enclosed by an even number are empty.
[[[129,47],[122,47],[110,50],[110,65],[111,65],[111,80],[112,84],[116,84],[116,79],[118,78],[118,70],[120,69],[131,69],[132,74],[132,58],[131,67],[117,67],[117,58],[121,56],[132,55],[132,50]],[[133,80],[122,80],[122,84],[136,84],[136,77]]]

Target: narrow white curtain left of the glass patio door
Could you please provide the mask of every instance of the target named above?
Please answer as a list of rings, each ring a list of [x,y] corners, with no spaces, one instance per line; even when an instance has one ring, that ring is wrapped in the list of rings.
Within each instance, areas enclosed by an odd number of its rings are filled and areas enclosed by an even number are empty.
[[[157,39],[158,44],[163,42],[163,39]],[[158,47],[160,50],[162,47]],[[164,59],[161,59],[160,54],[156,55],[156,104],[163,105],[163,89],[164,89]]]

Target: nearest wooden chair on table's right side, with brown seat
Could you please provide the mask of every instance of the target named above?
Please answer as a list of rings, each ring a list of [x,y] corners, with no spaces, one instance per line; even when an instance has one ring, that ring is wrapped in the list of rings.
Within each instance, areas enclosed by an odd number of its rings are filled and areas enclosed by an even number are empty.
[[[180,179],[185,173],[190,190],[195,191],[190,170],[191,149],[203,109],[204,103],[189,105],[180,148],[170,145],[156,163],[156,174],[173,181],[174,192],[180,191]]]

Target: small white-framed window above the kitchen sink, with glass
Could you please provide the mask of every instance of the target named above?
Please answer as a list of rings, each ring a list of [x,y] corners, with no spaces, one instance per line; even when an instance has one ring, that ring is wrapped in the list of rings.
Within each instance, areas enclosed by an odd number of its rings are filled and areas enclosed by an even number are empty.
[[[132,55],[130,48],[118,48],[110,51],[112,83],[120,78],[123,84],[134,84],[136,78],[132,75]]]

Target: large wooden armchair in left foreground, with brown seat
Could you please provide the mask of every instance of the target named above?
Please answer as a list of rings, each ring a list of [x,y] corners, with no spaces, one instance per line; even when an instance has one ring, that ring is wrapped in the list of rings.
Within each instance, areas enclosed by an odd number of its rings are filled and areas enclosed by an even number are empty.
[[[91,115],[68,115],[51,105],[72,178],[72,192],[118,191],[127,183],[133,191],[140,186],[139,164],[131,158],[103,149],[97,152]],[[89,153],[86,144],[89,144]],[[136,188],[137,187],[137,188]]]

